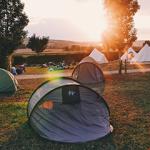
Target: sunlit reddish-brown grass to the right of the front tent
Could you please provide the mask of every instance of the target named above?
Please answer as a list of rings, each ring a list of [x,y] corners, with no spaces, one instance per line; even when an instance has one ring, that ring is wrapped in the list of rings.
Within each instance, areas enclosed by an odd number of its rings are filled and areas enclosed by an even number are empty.
[[[107,83],[104,95],[111,109],[119,149],[147,150],[150,148],[150,73],[116,75]]]

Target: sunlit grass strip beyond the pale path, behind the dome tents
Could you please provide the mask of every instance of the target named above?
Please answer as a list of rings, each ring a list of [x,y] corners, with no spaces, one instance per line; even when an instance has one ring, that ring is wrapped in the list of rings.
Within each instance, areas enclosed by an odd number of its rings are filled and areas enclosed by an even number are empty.
[[[108,64],[101,64],[101,69],[103,71],[112,71],[112,70],[118,70],[119,68],[119,62],[114,61]],[[127,64],[127,69],[141,69],[141,68],[150,68],[150,64]],[[124,69],[124,65],[122,67]],[[49,73],[48,68],[42,68],[42,67],[26,67],[26,72],[24,74],[46,74]],[[73,69],[66,69],[65,71],[72,71]]]

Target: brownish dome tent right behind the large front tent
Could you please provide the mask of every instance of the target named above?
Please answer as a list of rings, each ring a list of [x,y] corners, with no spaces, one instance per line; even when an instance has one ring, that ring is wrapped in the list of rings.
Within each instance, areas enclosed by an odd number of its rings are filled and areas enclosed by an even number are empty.
[[[104,74],[100,65],[91,57],[83,58],[72,72],[72,78],[86,85],[99,94],[102,94],[105,86]]]

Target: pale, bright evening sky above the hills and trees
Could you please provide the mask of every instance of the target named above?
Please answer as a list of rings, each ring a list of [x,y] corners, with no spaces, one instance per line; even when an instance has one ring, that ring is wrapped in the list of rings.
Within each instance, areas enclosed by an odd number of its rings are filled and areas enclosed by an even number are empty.
[[[50,39],[100,41],[107,29],[103,0],[22,0],[29,17],[28,36]],[[150,0],[138,0],[135,27],[139,40],[150,40]]]

